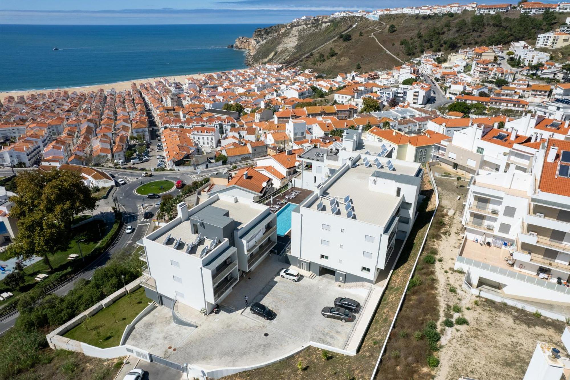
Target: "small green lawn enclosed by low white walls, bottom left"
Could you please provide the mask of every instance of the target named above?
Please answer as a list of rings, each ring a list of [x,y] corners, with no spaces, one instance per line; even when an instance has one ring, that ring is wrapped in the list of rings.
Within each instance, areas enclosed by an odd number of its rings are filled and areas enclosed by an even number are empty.
[[[149,302],[152,301],[146,298],[141,287],[100,310],[85,326],[77,325],[63,336],[100,348],[118,346],[127,325]]]

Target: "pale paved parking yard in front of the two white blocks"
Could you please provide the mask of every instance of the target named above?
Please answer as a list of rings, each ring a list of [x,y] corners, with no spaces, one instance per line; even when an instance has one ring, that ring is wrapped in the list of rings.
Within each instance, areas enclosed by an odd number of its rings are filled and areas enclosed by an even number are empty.
[[[266,362],[311,341],[343,349],[355,322],[324,318],[321,309],[333,306],[336,297],[362,303],[368,290],[341,289],[318,278],[292,282],[278,276],[287,267],[276,257],[266,258],[249,277],[242,277],[222,302],[222,311],[203,317],[198,328],[175,325],[171,310],[161,306],[135,326],[127,343],[176,363],[214,367]],[[251,314],[246,295],[250,304],[261,302],[273,310],[274,320]]]

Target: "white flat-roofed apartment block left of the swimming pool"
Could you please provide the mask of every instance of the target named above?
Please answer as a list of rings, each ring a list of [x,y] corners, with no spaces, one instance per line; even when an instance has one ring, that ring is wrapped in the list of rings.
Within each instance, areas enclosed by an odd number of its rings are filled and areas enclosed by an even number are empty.
[[[159,305],[176,302],[210,312],[259,265],[277,242],[275,215],[267,206],[215,194],[145,236],[141,260],[146,295]]]

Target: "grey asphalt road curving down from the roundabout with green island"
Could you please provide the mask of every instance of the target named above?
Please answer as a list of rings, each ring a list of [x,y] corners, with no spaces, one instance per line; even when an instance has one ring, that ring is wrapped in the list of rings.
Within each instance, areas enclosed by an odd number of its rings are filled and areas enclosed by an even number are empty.
[[[50,292],[48,293],[55,293],[58,294],[58,296],[64,296],[71,289],[74,288],[75,283],[81,278],[89,280],[91,277],[93,277],[93,272],[95,272],[95,269],[100,268],[101,266],[107,264],[107,261],[109,260],[109,258],[112,257],[114,253],[119,252],[121,249],[127,247],[135,248],[136,242],[147,234],[150,227],[152,226],[152,222],[150,220],[144,220],[143,213],[145,211],[152,211],[153,213],[156,213],[158,209],[154,207],[154,204],[156,204],[157,201],[159,200],[147,199],[145,196],[137,195],[135,193],[135,189],[141,185],[141,182],[147,183],[150,181],[168,179],[174,182],[176,182],[177,180],[182,180],[185,184],[188,184],[192,183],[192,181],[201,179],[202,177],[211,174],[213,172],[226,171],[229,168],[231,168],[231,166],[232,165],[224,165],[221,167],[205,169],[201,171],[193,170],[185,172],[181,171],[156,172],[153,173],[152,177],[143,177],[142,176],[143,172],[104,169],[105,172],[114,176],[115,180],[121,178],[124,179],[125,182],[127,182],[127,184],[125,185],[117,186],[109,196],[109,199],[112,199],[112,197],[116,197],[117,200],[119,201],[125,223],[123,224],[119,236],[115,240],[114,244],[111,247],[109,247],[109,249],[105,253],[103,253],[99,258],[97,258],[97,260],[89,264],[85,269],[76,273],[74,277],[70,278],[70,280],[56,286],[54,289],[51,289]],[[31,168],[14,169],[14,171],[18,172],[29,169]],[[0,169],[0,176],[10,176],[10,175],[12,175],[12,169],[10,168]],[[172,194],[173,196],[176,196],[179,192],[180,189],[174,188],[173,190],[164,194]],[[128,225],[131,225],[135,229],[135,231],[129,234],[125,233],[125,229],[127,228]],[[0,317],[0,335],[2,335],[12,326],[14,326],[18,316],[19,316],[18,311],[13,310],[13,312],[8,313],[3,317]]]

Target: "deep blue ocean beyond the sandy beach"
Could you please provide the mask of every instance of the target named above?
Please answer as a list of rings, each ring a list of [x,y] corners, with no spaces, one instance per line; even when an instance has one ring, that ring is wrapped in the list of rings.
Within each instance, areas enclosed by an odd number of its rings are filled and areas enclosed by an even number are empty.
[[[227,45],[265,26],[0,25],[0,91],[243,68],[245,52]]]

